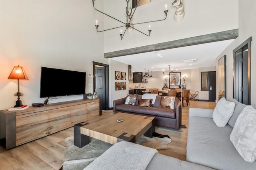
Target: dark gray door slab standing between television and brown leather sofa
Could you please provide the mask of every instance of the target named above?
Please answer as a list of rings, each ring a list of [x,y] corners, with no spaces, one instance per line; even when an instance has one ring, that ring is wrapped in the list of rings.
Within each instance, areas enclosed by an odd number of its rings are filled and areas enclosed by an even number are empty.
[[[106,109],[106,78],[105,67],[95,67],[95,92],[102,101],[102,110]]]

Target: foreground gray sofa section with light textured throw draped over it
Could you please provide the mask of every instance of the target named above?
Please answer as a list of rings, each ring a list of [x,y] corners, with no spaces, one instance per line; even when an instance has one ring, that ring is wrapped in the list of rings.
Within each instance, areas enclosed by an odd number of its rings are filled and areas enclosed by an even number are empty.
[[[119,142],[95,159],[84,170],[211,170],[182,161],[142,145]]]

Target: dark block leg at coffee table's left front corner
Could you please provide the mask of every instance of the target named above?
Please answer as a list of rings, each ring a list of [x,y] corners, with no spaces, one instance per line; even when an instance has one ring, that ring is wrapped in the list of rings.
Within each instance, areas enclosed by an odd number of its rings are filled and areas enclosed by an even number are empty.
[[[81,134],[80,127],[82,124],[74,125],[74,145],[76,147],[82,148],[88,143],[90,143],[90,139],[87,135]]]

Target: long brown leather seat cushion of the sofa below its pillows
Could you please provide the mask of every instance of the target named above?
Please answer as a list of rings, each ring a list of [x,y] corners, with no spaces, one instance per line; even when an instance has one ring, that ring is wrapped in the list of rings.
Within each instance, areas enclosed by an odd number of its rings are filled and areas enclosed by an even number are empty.
[[[148,116],[160,116],[175,118],[175,110],[163,107],[141,107],[134,105],[120,104],[116,106],[116,110],[130,112],[130,113],[140,113]]]

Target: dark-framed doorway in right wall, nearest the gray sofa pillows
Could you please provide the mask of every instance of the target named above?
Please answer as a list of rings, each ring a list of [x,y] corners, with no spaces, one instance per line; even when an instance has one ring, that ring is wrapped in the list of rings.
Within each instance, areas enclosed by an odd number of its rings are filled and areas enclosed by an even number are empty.
[[[248,38],[233,50],[233,98],[251,104],[251,41]]]

